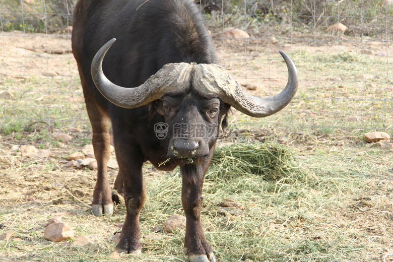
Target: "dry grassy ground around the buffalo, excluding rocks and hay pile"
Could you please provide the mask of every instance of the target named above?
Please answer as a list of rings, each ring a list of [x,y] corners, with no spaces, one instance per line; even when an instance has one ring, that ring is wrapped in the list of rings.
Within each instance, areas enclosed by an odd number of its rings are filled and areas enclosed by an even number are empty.
[[[12,47],[8,43],[21,43],[23,39],[26,45],[52,40],[51,36],[39,36],[30,41],[30,37],[4,34],[3,49],[8,52],[7,48]],[[66,44],[69,41],[53,38]],[[286,51],[293,51],[290,54],[298,65],[301,84],[292,104],[265,119],[245,117],[236,111],[230,115],[230,128],[222,134],[220,143],[283,143],[293,152],[292,166],[301,167],[312,179],[284,183],[243,171],[239,175],[229,168],[229,176],[222,172],[220,177],[212,166],[204,184],[202,220],[218,261],[391,260],[386,250],[393,248],[391,152],[370,147],[362,138],[372,129],[391,133],[391,74],[386,69],[390,69],[391,62],[381,63],[386,57],[359,56],[363,47],[358,43],[340,52],[335,44],[310,47],[304,42],[294,43]],[[285,65],[277,62],[281,60],[276,54],[282,46],[268,50],[264,42],[257,40],[246,45],[221,40],[216,44],[226,68],[240,81],[246,79],[257,85],[257,91],[250,93],[271,95],[285,85]],[[251,51],[260,55],[250,56]],[[27,56],[15,53],[9,57],[4,53],[2,57],[7,63],[2,64],[6,74],[1,79],[1,91],[9,90],[16,96],[1,100],[1,127],[5,130],[15,123],[15,128],[0,137],[0,233],[13,231],[15,236],[0,242],[0,260],[185,261],[184,231],[160,232],[160,240],[143,238],[141,256],[112,255],[112,237],[119,231],[115,226],[123,223],[124,206],[117,206],[111,218],[94,217],[88,206],[95,172],[65,167],[64,157],[79,151],[91,137],[75,61],[69,59],[70,55],[51,59],[56,57],[54,54],[42,61],[42,54],[37,50]],[[388,50],[389,57],[391,54]],[[19,66],[27,73],[14,73],[14,67]],[[47,77],[40,73],[56,67],[67,68],[71,74]],[[359,72],[372,72],[376,77],[357,81],[354,77]],[[326,80],[332,75],[341,77],[341,81]],[[368,82],[374,86],[367,87]],[[43,95],[46,97],[40,99]],[[41,112],[31,117],[31,112],[37,113],[38,109]],[[356,120],[349,120],[349,116]],[[26,130],[26,124],[42,119],[50,119],[50,126],[36,123]],[[62,145],[53,135],[68,132],[66,127],[79,127],[82,132],[70,133],[74,139]],[[338,142],[344,142],[344,146],[338,146]],[[51,157],[22,158],[11,151],[12,145],[21,144],[49,149]],[[41,167],[34,169],[37,164]],[[166,218],[183,211],[178,170],[158,172],[146,165],[144,173],[148,198],[141,226],[142,234],[147,235],[152,227],[162,227]],[[280,171],[276,175],[288,174]],[[111,184],[114,178],[111,172]],[[244,210],[237,216],[223,212],[219,207],[223,198],[243,204]],[[59,199],[62,204],[53,205],[53,200]],[[44,240],[42,225],[59,212],[65,212],[63,221],[75,229],[76,236],[94,235],[95,243],[78,247],[73,246],[74,239],[62,243]]]

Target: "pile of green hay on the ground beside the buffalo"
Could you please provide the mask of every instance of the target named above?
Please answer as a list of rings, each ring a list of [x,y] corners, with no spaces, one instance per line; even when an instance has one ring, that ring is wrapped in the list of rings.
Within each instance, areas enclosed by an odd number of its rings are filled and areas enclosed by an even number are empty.
[[[216,149],[207,179],[228,180],[244,175],[286,183],[306,179],[287,146],[269,142],[239,143]]]

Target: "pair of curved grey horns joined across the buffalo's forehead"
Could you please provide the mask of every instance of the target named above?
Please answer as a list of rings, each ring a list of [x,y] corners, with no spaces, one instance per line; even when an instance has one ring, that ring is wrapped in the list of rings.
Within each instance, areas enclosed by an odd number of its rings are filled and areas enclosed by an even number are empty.
[[[253,117],[265,117],[280,111],[296,94],[297,70],[283,51],[280,54],[287,64],[288,82],[283,91],[272,97],[258,98],[244,92],[242,86],[217,64],[168,63],[141,86],[120,87],[110,82],[102,71],[102,60],[115,40],[108,41],[94,56],[91,73],[101,94],[120,107],[136,108],[160,99],[168,91],[181,91],[188,87],[192,75],[196,90],[202,94],[216,94],[223,102]]]

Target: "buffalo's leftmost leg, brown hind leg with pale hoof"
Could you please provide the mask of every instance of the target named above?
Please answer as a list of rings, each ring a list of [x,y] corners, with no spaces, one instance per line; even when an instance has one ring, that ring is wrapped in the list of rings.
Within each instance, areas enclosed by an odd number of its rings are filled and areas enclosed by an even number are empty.
[[[95,216],[112,216],[112,192],[108,181],[110,158],[109,118],[98,108],[91,96],[85,94],[87,112],[93,130],[93,148],[97,160],[97,182],[94,187],[92,211]]]

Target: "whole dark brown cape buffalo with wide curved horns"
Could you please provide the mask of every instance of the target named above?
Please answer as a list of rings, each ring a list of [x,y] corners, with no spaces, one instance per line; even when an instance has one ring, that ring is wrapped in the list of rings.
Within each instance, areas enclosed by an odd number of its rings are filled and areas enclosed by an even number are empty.
[[[150,161],[161,170],[180,167],[188,259],[216,261],[200,216],[218,127],[227,123],[230,106],[253,117],[284,108],[297,89],[292,60],[281,52],[289,71],[281,93],[270,98],[247,94],[218,65],[203,17],[190,0],[79,0],[72,48],[93,129],[96,216],[113,213],[107,179],[109,120],[112,124],[119,164],[114,186],[127,210],[116,249],[141,252],[142,165]]]

